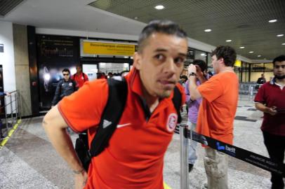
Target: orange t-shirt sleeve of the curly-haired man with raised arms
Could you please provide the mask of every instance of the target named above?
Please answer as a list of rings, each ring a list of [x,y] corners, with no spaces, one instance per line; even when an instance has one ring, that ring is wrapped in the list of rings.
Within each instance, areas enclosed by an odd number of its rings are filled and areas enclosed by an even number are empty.
[[[208,102],[212,102],[223,94],[223,85],[221,84],[222,82],[220,82],[220,77],[216,75],[211,77],[205,83],[199,85],[197,90],[200,92],[203,98],[205,98]]]

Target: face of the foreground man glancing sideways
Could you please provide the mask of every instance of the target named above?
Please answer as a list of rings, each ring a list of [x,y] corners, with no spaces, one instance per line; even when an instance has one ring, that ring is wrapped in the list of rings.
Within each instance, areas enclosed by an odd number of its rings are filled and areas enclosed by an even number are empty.
[[[147,38],[143,52],[136,52],[134,63],[140,79],[152,97],[169,97],[187,55],[187,40],[178,36],[154,33]]]

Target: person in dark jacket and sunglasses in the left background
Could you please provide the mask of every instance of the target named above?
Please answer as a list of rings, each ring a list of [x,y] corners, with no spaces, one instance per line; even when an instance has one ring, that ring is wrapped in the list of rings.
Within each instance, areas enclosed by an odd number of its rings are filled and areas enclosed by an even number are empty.
[[[53,97],[53,102],[51,102],[52,106],[58,104],[63,97],[69,96],[78,90],[77,83],[70,79],[69,69],[63,69],[62,75],[63,78],[60,80],[60,82],[58,82],[58,86],[55,90],[55,96]]]

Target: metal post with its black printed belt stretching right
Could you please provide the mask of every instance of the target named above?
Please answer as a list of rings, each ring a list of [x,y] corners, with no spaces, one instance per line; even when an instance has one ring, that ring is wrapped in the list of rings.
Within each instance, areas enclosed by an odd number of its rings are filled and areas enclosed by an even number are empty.
[[[222,141],[206,137],[198,134],[192,130],[187,129],[187,125],[180,126],[180,188],[189,189],[189,176],[188,176],[188,139],[204,144],[204,146],[211,147],[217,151],[223,152],[234,158],[247,162],[261,169],[269,172],[281,174],[285,178],[285,164],[282,162],[274,162],[270,158],[263,155],[246,151],[237,146],[225,144]]]

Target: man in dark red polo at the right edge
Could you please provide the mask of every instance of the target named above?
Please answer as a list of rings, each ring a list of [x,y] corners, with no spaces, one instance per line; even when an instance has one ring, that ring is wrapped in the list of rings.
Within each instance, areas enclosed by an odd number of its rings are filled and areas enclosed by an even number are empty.
[[[263,84],[256,94],[256,109],[263,111],[264,144],[275,162],[284,162],[285,153],[285,55],[273,60],[274,78]],[[271,174],[272,189],[283,189],[279,174]]]

